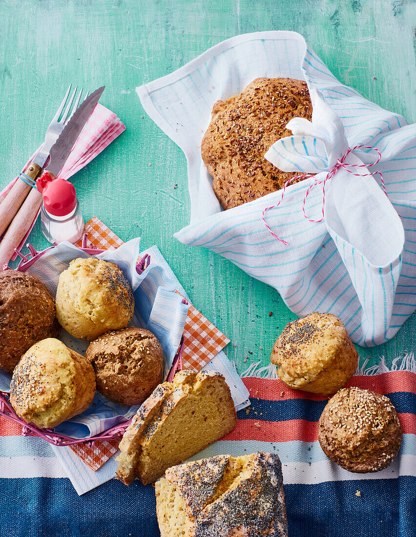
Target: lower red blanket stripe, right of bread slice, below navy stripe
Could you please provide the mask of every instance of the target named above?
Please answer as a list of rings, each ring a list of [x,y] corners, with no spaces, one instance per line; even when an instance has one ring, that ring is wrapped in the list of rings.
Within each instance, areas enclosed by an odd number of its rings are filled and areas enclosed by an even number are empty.
[[[416,434],[414,414],[399,414],[404,434]],[[238,419],[235,428],[221,440],[257,440],[263,442],[290,442],[318,440],[318,422],[289,419],[286,422],[262,422],[260,419]]]

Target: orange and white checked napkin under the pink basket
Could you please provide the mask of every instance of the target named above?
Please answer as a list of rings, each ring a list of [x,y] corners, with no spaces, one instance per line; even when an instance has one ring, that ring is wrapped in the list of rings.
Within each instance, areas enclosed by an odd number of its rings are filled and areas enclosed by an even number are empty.
[[[84,233],[88,242],[97,248],[109,250],[118,248],[123,241],[96,216],[85,224]],[[77,243],[81,246],[82,241]],[[178,293],[178,291],[177,291]],[[180,293],[178,293],[180,294]],[[208,321],[200,311],[189,304],[188,317],[184,329],[184,368],[200,371],[218,352],[228,345],[230,340],[217,327]],[[120,439],[100,440],[93,446],[76,444],[70,449],[92,470],[97,471],[118,450]]]

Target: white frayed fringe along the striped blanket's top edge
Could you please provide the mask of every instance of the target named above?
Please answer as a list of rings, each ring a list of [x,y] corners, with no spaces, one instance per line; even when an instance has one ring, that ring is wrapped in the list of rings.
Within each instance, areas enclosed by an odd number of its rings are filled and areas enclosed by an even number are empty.
[[[413,352],[405,354],[403,357],[398,356],[392,361],[391,368],[386,365],[385,357],[380,357],[378,365],[366,367],[369,362],[369,358],[362,361],[362,364],[358,364],[355,374],[356,375],[379,375],[381,373],[388,373],[390,371],[411,371],[416,373],[416,357]],[[240,375],[242,379],[247,376],[255,376],[259,379],[271,379],[278,378],[277,368],[274,364],[268,366],[262,366],[261,362],[254,362]]]

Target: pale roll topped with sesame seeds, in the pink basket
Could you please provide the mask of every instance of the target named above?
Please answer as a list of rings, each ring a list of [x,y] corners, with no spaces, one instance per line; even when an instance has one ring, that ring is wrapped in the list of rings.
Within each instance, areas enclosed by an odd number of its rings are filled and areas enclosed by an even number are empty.
[[[96,378],[81,354],[54,338],[35,343],[21,358],[10,384],[17,415],[38,427],[55,427],[86,410]]]

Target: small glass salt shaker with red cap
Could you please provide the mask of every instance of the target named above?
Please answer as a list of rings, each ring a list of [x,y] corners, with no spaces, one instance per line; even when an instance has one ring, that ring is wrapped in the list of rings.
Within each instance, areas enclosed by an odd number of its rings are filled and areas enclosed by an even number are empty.
[[[75,187],[65,179],[53,179],[43,173],[37,180],[42,194],[40,230],[51,244],[68,241],[74,244],[83,234],[84,221]]]

